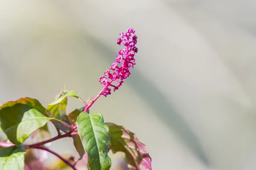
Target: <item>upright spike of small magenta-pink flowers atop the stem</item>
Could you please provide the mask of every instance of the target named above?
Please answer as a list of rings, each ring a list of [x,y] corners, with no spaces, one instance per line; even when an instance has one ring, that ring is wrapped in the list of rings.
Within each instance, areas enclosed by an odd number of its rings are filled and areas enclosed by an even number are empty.
[[[104,96],[111,94],[111,88],[108,88],[109,86],[113,87],[113,91],[116,91],[122,85],[123,80],[131,74],[129,68],[134,67],[134,55],[138,52],[138,48],[135,46],[137,44],[137,36],[133,35],[134,33],[134,29],[129,28],[125,34],[123,32],[119,34],[120,38],[117,39],[116,43],[118,45],[124,45],[125,48],[119,50],[116,61],[104,73],[108,78],[105,76],[99,78],[99,82],[104,85],[102,91],[102,95]],[[113,85],[112,82],[116,82],[117,85]]]

